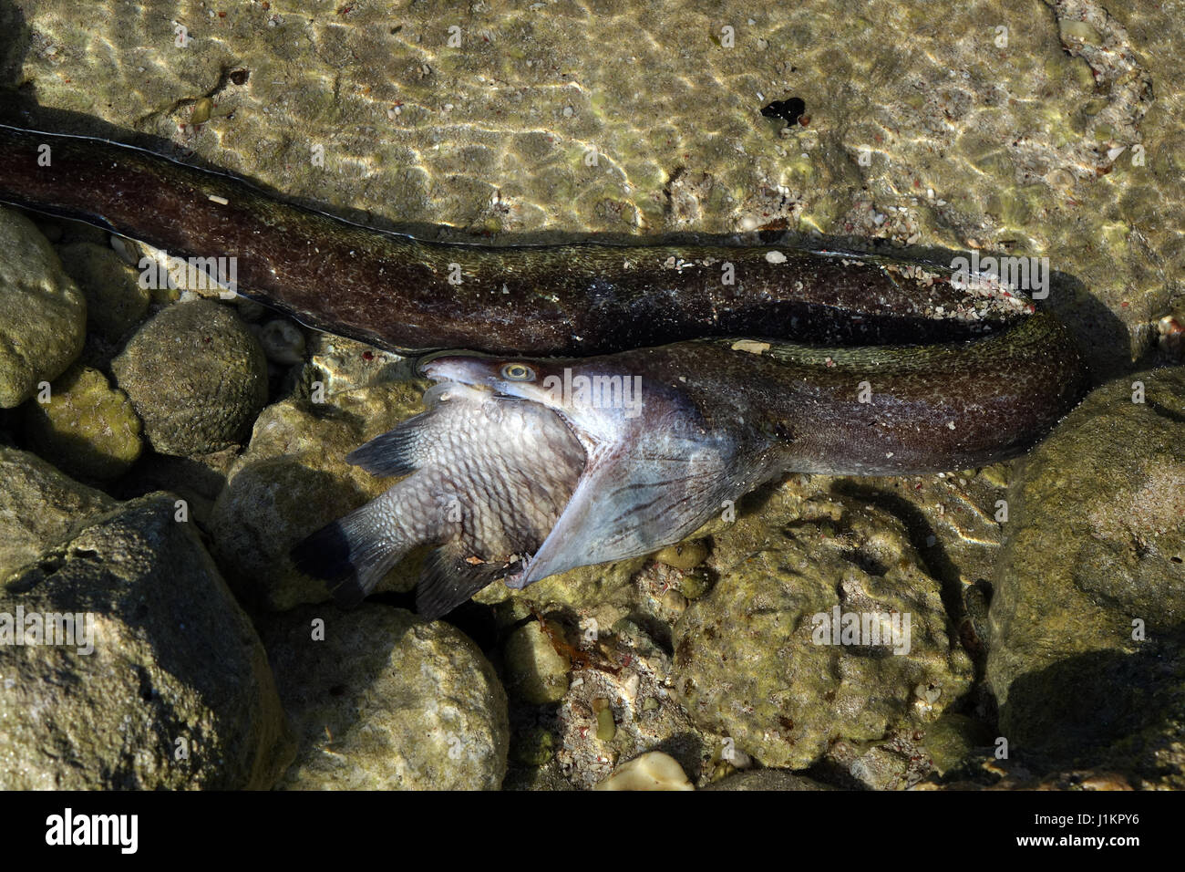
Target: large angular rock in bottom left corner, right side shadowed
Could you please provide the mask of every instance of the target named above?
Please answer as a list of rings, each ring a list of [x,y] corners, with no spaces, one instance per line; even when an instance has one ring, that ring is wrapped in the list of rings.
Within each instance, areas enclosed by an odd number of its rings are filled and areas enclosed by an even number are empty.
[[[267,655],[173,513],[168,494],[124,503],[0,587],[26,632],[32,615],[82,628],[0,645],[4,789],[260,789],[283,771]]]

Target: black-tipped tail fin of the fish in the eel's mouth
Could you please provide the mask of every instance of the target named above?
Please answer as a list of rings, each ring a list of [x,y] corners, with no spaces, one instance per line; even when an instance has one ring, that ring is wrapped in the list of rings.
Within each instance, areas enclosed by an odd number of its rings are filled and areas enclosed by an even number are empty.
[[[410,550],[412,543],[376,532],[373,503],[297,542],[289,552],[296,568],[324,579],[338,605],[358,605]]]

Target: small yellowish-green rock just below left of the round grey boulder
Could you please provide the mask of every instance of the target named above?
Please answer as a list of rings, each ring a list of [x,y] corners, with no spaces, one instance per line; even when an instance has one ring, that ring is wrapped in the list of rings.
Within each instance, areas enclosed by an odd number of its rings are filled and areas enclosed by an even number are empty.
[[[97,369],[71,367],[53,382],[44,402],[39,394],[24,410],[30,444],[79,478],[117,478],[143,448],[140,419],[127,395]]]

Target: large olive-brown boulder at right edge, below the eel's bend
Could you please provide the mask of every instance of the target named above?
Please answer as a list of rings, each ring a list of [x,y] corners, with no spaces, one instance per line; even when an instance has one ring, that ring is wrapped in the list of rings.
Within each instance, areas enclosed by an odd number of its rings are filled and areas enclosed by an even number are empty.
[[[1010,750],[1185,787],[1185,370],[1095,392],[1010,502],[987,661]]]

